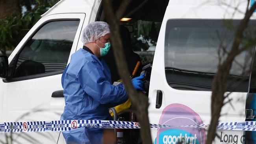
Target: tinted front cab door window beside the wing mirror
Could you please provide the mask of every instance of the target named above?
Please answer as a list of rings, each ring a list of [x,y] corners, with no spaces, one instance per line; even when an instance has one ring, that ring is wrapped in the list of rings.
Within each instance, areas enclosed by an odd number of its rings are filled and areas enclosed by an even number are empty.
[[[79,20],[46,23],[19,54],[14,78],[64,70]]]

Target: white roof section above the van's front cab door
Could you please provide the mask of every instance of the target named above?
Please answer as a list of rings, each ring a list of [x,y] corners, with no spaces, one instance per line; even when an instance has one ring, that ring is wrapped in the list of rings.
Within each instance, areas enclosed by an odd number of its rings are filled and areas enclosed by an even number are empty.
[[[57,4],[41,15],[41,17],[59,13],[85,13],[85,9],[87,7],[91,9],[95,1],[96,0],[60,0]]]

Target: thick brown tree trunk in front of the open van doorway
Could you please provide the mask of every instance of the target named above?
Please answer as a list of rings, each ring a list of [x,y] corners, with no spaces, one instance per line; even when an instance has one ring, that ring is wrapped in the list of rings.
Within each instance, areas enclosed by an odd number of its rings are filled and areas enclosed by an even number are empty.
[[[122,46],[122,41],[120,37],[119,32],[119,19],[122,17],[121,10],[118,10],[117,15],[113,12],[113,7],[111,6],[111,3],[109,0],[104,0],[104,12],[106,15],[106,19],[108,23],[110,24],[110,30],[111,30],[111,39],[114,41],[111,41],[111,45],[113,48],[114,56],[117,65],[117,69],[119,72],[119,75],[121,76],[126,91],[129,94],[129,98],[132,101],[132,104],[135,107],[135,114],[138,118],[138,121],[141,125],[140,133],[141,133],[141,139],[143,140],[143,144],[152,144],[151,139],[151,133],[150,133],[150,126],[149,126],[149,119],[148,119],[148,98],[142,93],[138,92],[134,89],[132,82],[129,78],[129,70],[128,65],[126,63],[126,57],[124,55],[124,50]],[[121,9],[124,10],[126,8],[125,5],[128,5],[128,0],[124,0],[121,4]]]

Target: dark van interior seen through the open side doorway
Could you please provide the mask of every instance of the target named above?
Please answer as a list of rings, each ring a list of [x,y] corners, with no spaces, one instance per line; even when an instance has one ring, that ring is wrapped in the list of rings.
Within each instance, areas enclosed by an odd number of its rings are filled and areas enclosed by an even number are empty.
[[[112,1],[114,11],[118,10],[121,3],[121,0]],[[141,74],[143,66],[153,62],[158,34],[168,3],[169,0],[161,2],[155,0],[131,0],[123,16],[123,18],[130,19],[120,20],[121,39],[131,75],[137,61],[141,61],[141,66],[135,77]],[[102,4],[96,21],[107,21]],[[109,66],[112,82],[121,79],[115,65],[113,49],[110,49],[109,54],[102,58]]]

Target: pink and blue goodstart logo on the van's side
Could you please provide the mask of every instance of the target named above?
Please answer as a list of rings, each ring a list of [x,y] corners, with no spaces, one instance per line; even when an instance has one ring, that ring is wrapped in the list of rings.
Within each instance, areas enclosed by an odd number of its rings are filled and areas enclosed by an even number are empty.
[[[159,124],[169,126],[189,126],[203,124],[200,116],[186,105],[173,103],[163,109]],[[205,127],[208,127],[207,125]],[[191,143],[204,144],[205,129],[191,127],[158,128],[155,144]]]

